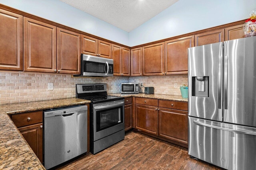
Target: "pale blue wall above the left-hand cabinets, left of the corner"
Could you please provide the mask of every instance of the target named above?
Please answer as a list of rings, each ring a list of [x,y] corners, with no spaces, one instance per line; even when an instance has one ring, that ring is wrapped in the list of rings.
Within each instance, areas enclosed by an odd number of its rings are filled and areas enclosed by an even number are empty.
[[[59,0],[0,0],[0,4],[128,45],[129,33]]]

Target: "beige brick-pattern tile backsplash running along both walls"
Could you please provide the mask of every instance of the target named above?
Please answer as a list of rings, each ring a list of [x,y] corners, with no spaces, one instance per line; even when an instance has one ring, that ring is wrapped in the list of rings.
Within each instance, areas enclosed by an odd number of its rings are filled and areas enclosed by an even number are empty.
[[[106,83],[108,94],[120,93],[121,83],[138,82],[153,86],[155,94],[180,94],[179,87],[188,83],[187,75],[107,78],[72,78],[69,74],[0,72],[0,105],[76,97],[76,84]],[[178,88],[174,88],[174,83]],[[53,90],[48,90],[53,83]]]

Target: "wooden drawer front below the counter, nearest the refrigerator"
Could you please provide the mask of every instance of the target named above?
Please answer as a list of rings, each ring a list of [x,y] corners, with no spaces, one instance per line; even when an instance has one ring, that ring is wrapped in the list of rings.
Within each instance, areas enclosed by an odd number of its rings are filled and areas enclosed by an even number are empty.
[[[188,111],[188,102],[158,100],[158,107]]]

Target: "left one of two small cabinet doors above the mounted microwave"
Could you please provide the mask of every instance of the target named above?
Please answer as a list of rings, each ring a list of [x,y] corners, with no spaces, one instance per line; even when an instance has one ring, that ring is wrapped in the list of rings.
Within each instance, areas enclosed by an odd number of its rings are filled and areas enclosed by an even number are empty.
[[[82,35],[82,54],[98,55],[98,39]]]

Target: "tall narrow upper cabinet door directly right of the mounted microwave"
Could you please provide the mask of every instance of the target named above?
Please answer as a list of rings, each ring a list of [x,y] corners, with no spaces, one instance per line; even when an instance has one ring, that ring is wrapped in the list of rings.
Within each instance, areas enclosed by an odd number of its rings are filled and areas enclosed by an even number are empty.
[[[112,44],[112,59],[114,62],[114,76],[121,76],[122,74],[122,47]]]

